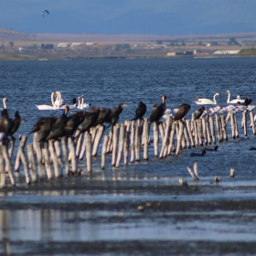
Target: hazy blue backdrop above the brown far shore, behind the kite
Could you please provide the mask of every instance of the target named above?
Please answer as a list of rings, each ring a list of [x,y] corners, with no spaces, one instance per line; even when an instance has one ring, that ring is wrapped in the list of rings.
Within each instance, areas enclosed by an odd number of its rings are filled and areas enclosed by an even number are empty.
[[[256,0],[1,0],[0,27],[34,33],[222,34],[256,31]],[[41,12],[49,15],[43,18]]]

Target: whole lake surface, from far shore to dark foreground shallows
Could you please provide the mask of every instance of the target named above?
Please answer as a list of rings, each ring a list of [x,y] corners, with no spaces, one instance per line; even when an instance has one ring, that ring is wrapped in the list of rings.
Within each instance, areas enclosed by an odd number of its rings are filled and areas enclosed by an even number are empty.
[[[220,92],[217,101],[224,106],[229,90],[232,99],[239,94],[256,103],[255,80],[252,58],[0,62],[0,98],[8,98],[11,116],[18,110],[27,119],[17,134],[27,134],[41,115],[61,114],[35,106],[50,104],[52,91],[61,91],[66,102],[83,94],[92,106],[126,103],[123,123],[133,117],[138,101],[147,104],[149,117],[162,94],[167,108],[191,104],[189,118],[198,108],[197,96],[212,99]],[[240,123],[241,112],[236,116]],[[10,247],[15,255],[255,254],[256,152],[249,148],[256,139],[251,129],[245,138],[240,128],[237,140],[229,125],[228,131],[229,141],[204,157],[190,157],[199,147],[160,160],[151,144],[148,162],[119,169],[112,168],[108,155],[102,172],[99,156],[92,174],[30,186],[21,171],[16,187],[0,191],[0,252]],[[198,182],[187,173],[195,161]],[[80,168],[86,170],[85,160]],[[218,184],[214,176],[220,176]],[[180,177],[188,187],[179,186]]]

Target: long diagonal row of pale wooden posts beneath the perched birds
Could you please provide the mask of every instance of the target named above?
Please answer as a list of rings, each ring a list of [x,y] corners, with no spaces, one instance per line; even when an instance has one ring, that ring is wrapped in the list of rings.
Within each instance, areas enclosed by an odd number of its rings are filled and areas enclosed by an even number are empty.
[[[250,112],[252,134],[255,135],[253,113]],[[173,121],[171,116],[163,123],[154,123],[154,155],[164,158],[171,153],[179,154],[180,150],[207,144],[216,144],[228,140],[227,124],[230,122],[231,136],[239,138],[237,118],[234,113],[215,114],[215,118],[207,115],[195,120],[192,114],[191,121]],[[215,123],[215,125],[214,125]],[[244,135],[247,136],[247,111],[242,112],[242,126]],[[64,138],[61,140],[50,140],[45,143],[37,142],[37,133],[34,135],[33,144],[27,144],[27,135],[20,136],[20,143],[16,154],[16,163],[11,165],[11,157],[14,152],[15,141],[0,143],[0,187],[6,186],[6,176],[9,176],[10,183],[15,186],[16,179],[14,172],[18,172],[22,163],[27,184],[37,182],[45,177],[62,176],[65,167],[65,174],[78,173],[78,160],[86,156],[87,171],[92,171],[92,157],[98,155],[101,138],[101,169],[105,168],[106,155],[112,154],[112,166],[118,168],[123,158],[123,165],[128,165],[129,153],[130,162],[143,159],[148,160],[148,149],[150,144],[150,123],[147,119],[125,121],[123,124],[113,126],[109,134],[103,135],[104,125],[91,128],[90,133],[80,133],[76,139]],[[217,134],[217,135],[216,135]],[[162,140],[162,147],[159,148],[159,138]],[[27,144],[27,155],[26,155]],[[61,146],[60,146],[61,145]],[[36,158],[36,159],[35,159]],[[37,163],[37,164],[36,164]],[[70,163],[70,166],[69,166]],[[30,172],[29,172],[30,171]]]

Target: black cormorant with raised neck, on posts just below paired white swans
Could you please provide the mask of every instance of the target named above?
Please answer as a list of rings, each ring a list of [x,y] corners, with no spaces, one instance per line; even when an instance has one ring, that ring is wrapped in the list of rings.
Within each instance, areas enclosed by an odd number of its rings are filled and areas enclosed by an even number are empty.
[[[53,124],[52,129],[47,136],[47,140],[59,139],[59,137],[63,137],[66,135],[67,129],[71,130],[70,127],[66,126],[68,122],[68,115],[67,115],[68,112],[69,112],[69,106],[66,106],[63,113],[60,115],[57,121]]]

